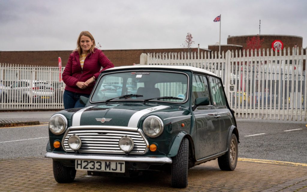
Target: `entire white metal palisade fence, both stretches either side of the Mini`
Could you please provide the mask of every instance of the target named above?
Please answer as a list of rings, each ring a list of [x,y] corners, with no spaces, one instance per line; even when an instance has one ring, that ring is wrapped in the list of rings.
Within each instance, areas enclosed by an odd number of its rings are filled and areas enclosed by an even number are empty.
[[[298,48],[227,51],[220,58],[217,53],[141,55],[141,64],[188,65],[217,74],[237,117],[292,121],[307,121],[305,63],[306,53]],[[63,109],[60,77],[58,67],[0,64],[0,110]]]

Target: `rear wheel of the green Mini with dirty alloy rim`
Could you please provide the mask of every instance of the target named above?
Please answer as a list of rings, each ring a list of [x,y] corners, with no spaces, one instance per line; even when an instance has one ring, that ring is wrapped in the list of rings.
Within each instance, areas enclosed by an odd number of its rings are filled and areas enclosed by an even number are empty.
[[[229,149],[226,154],[217,158],[221,170],[233,171],[238,162],[238,139],[235,134],[231,134]]]

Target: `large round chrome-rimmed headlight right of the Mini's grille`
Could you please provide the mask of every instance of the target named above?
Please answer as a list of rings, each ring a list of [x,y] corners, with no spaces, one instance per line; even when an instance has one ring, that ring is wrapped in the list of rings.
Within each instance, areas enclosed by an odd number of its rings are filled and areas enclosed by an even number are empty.
[[[163,121],[157,116],[149,116],[144,120],[143,131],[149,137],[157,137],[163,132]]]

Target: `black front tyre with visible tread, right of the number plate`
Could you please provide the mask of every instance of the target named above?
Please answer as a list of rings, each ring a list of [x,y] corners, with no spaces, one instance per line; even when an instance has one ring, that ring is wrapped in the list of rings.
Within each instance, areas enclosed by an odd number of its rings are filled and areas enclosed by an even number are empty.
[[[180,143],[177,155],[173,157],[172,187],[184,188],[188,186],[188,156],[189,142],[187,138],[184,138]]]

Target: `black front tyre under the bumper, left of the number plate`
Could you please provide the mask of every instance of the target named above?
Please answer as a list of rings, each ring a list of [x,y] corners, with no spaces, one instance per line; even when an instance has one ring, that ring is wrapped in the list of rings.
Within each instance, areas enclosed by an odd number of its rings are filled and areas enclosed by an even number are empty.
[[[62,163],[52,160],[53,176],[58,183],[70,183],[76,177],[74,167],[66,167]]]

